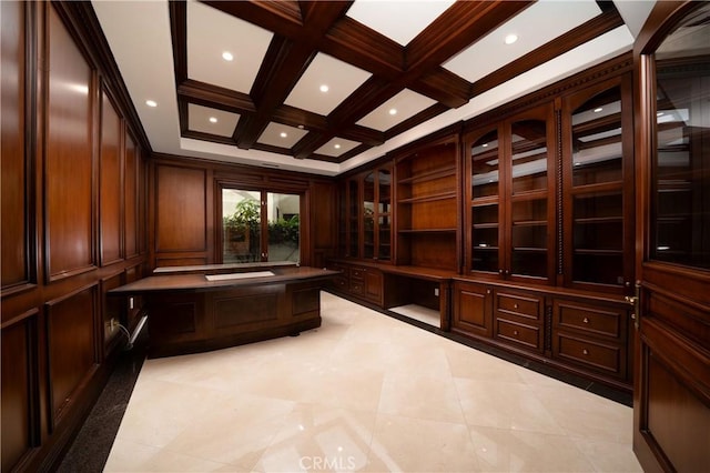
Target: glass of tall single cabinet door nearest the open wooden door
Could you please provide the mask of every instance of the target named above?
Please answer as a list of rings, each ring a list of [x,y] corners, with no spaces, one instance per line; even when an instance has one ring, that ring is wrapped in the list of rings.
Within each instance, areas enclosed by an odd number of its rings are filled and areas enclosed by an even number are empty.
[[[567,284],[604,284],[623,288],[630,264],[630,217],[625,202],[631,202],[625,185],[623,130],[630,123],[622,82],[582,91],[566,105],[569,129],[565,168],[565,275]],[[625,252],[625,249],[627,252]]]

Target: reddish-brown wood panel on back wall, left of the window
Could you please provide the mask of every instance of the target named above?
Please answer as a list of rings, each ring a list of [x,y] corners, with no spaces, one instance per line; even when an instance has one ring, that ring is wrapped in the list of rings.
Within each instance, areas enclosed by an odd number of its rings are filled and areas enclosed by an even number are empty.
[[[205,251],[205,170],[159,165],[155,172],[156,250]]]

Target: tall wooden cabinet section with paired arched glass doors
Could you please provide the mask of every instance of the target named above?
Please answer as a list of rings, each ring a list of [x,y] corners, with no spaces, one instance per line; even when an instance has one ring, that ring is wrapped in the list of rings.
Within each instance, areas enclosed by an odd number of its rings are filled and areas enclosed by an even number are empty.
[[[554,282],[555,140],[551,103],[466,135],[468,272]]]

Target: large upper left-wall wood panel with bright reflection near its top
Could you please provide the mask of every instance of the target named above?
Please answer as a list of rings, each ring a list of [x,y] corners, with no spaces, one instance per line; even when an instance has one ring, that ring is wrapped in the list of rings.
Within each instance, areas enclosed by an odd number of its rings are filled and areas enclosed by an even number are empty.
[[[93,252],[93,71],[54,9],[48,12],[45,251],[50,280],[95,265]]]

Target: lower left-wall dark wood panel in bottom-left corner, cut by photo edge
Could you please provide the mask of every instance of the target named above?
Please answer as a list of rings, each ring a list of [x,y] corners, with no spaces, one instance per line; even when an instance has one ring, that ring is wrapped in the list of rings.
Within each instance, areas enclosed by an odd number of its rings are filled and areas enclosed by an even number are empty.
[[[4,13],[4,10],[3,10]],[[34,446],[37,412],[32,388],[37,310],[2,326],[2,471],[10,471]]]

